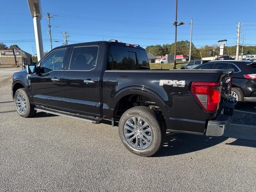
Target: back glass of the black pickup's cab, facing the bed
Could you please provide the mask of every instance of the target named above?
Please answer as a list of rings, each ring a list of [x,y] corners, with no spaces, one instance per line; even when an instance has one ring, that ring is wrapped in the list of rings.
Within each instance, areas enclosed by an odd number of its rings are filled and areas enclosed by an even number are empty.
[[[149,69],[145,50],[126,46],[111,46],[108,54],[108,70]]]

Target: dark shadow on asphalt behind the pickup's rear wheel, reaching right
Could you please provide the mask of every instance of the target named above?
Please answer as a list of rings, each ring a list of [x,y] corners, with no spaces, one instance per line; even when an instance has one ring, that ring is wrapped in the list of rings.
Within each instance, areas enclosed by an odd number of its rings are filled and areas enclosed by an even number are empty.
[[[169,133],[166,135],[164,146],[153,157],[174,156],[195,152],[215,146],[227,139],[226,137]],[[250,140],[237,139],[234,142],[226,144],[256,148],[256,142]]]

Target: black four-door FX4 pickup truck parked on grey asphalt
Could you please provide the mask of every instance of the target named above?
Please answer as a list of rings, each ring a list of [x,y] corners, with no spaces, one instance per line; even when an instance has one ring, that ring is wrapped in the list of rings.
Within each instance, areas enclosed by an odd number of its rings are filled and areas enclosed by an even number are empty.
[[[221,136],[230,122],[232,70],[150,70],[139,45],[116,40],[54,48],[13,75],[18,114],[36,111],[118,125],[124,146],[152,156],[166,131]]]

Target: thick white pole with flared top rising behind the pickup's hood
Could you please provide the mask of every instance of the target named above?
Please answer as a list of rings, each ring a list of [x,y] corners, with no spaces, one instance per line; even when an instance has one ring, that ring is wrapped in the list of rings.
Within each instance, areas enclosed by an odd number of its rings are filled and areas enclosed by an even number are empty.
[[[42,19],[40,0],[28,0],[28,6],[30,9],[30,13],[33,17],[37,60],[39,61],[44,56],[42,30],[40,22],[40,20]]]

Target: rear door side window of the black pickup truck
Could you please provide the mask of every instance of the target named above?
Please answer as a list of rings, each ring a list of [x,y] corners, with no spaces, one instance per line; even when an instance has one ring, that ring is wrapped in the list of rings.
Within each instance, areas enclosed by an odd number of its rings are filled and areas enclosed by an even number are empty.
[[[96,67],[98,46],[75,47],[69,70],[89,71]]]

